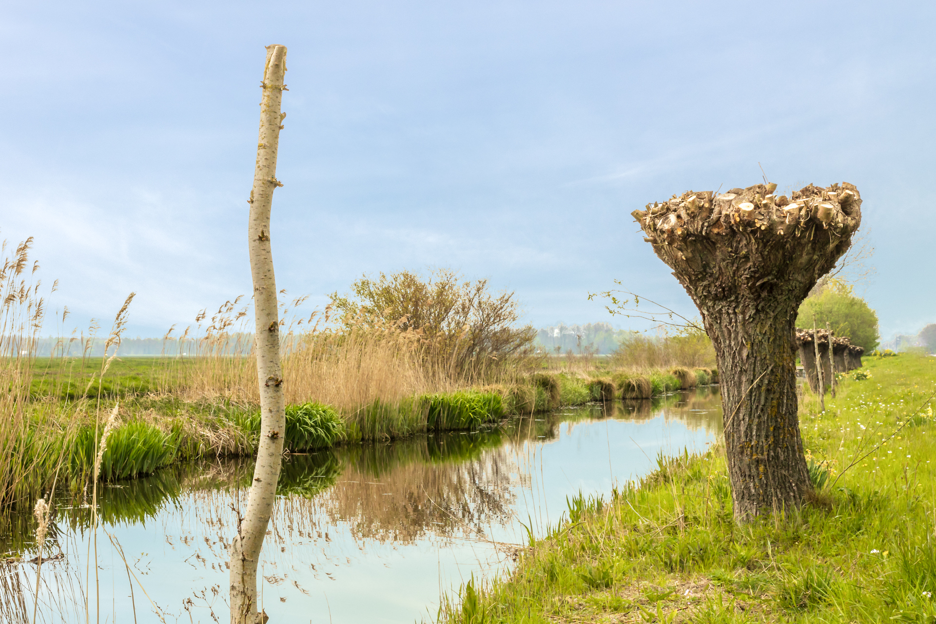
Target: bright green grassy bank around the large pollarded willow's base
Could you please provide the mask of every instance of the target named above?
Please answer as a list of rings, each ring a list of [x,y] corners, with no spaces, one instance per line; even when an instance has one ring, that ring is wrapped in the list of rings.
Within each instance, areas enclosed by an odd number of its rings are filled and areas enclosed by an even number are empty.
[[[825,413],[801,403],[817,486],[803,508],[739,526],[719,448],[660,457],[611,500],[569,501],[513,573],[473,580],[440,620],[936,621],[936,358],[868,358],[861,372]]]

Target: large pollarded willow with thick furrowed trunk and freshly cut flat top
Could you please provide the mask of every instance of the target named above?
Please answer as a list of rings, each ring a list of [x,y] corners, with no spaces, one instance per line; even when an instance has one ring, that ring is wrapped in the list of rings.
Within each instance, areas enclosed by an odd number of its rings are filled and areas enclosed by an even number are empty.
[[[812,491],[797,417],[797,310],[861,223],[852,184],[689,191],[632,215],[695,301],[718,360],[735,518]]]

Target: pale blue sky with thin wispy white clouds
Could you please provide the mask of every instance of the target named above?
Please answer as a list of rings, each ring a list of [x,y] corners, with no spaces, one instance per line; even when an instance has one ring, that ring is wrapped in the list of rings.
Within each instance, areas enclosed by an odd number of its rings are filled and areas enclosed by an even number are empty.
[[[936,322],[932,3],[18,3],[0,21],[0,237],[76,324],[158,336],[250,291],[264,46],[288,47],[279,287],[456,268],[526,319],[694,313],[629,216],[687,189],[850,181],[881,333]],[[620,322],[620,321],[614,321]],[[626,322],[625,322],[626,327]]]

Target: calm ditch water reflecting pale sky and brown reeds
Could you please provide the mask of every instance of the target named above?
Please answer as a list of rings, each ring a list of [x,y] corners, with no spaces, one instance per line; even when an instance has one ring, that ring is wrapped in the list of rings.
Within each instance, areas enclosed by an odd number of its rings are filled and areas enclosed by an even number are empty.
[[[509,567],[523,525],[542,534],[566,497],[607,498],[658,454],[704,449],[721,424],[717,389],[702,388],[294,455],[264,544],[263,607],[278,622],[434,619],[441,595]],[[132,622],[133,603],[140,622],[227,621],[231,504],[245,501],[252,470],[203,462],[105,486],[96,538],[89,508],[60,507],[53,552],[64,556],[43,563],[38,621],[85,621],[86,596],[91,621]],[[3,570],[0,619],[30,621],[36,566]]]

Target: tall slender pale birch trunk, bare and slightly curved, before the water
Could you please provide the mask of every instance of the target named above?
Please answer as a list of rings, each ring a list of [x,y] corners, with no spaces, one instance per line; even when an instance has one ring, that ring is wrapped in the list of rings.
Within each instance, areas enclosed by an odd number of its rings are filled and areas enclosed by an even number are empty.
[[[254,353],[260,386],[260,442],[247,511],[239,519],[237,535],[228,549],[231,624],[256,624],[268,619],[265,613],[257,614],[256,568],[276,499],[285,436],[280,321],[270,240],[273,190],[283,185],[276,180],[276,152],[280,130],[283,129],[280,123],[285,117],[285,113],[280,112],[285,91],[285,63],[285,46],[267,47],[267,65],[261,84],[260,138],[256,149],[254,188],[248,200],[250,221],[247,227],[250,270],[254,279]]]

